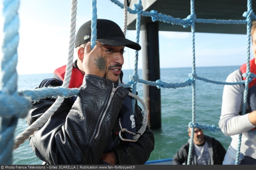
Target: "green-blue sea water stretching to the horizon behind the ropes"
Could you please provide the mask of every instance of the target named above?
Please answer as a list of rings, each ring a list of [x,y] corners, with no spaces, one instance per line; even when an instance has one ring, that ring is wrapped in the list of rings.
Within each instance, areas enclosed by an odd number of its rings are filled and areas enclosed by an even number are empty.
[[[225,81],[228,74],[239,69],[239,66],[198,67],[198,77],[211,80]],[[123,70],[123,82],[129,82],[133,70]],[[182,82],[189,78],[192,68],[161,68],[160,79],[163,82]],[[142,70],[138,70],[142,79]],[[18,90],[33,90],[39,83],[51,78],[52,74],[19,75]],[[143,99],[143,87],[137,83],[138,96]],[[196,122],[199,124],[217,125],[221,114],[223,85],[196,80]],[[142,106],[141,104],[139,104]],[[152,130],[155,136],[155,149],[149,160],[173,158],[175,153],[188,140],[187,126],[192,121],[192,86],[165,89],[161,88],[161,117],[162,127]],[[25,119],[19,119],[14,136],[27,128]],[[231,142],[229,136],[221,131],[212,133],[204,130],[204,134],[214,137],[227,149]],[[33,153],[28,140],[13,151],[13,164],[42,164]]]

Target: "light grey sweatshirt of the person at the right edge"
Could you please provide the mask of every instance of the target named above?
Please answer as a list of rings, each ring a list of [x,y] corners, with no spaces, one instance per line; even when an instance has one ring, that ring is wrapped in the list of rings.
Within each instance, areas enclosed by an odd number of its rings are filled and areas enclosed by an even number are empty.
[[[239,70],[229,74],[226,82],[242,81]],[[237,150],[238,137],[242,133],[240,153],[256,159],[256,134],[249,130],[251,124],[248,114],[239,115],[242,111],[244,85],[225,85],[222,96],[221,116],[219,126],[226,136],[231,136],[231,147]]]

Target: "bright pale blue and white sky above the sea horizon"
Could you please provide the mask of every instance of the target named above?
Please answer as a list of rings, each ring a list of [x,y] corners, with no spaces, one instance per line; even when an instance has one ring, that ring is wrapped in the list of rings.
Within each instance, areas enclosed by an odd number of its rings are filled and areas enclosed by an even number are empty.
[[[52,73],[66,65],[70,8],[71,0],[20,0],[18,74]],[[123,29],[123,9],[109,0],[97,0],[97,17],[113,20]],[[91,0],[78,0],[76,30],[90,19]],[[135,41],[135,34],[127,31],[126,37]],[[160,68],[191,67],[191,44],[190,32],[159,31]],[[246,44],[246,35],[196,33],[196,66],[242,65]],[[125,50],[123,69],[133,69],[135,50]],[[141,53],[138,68],[142,68]]]

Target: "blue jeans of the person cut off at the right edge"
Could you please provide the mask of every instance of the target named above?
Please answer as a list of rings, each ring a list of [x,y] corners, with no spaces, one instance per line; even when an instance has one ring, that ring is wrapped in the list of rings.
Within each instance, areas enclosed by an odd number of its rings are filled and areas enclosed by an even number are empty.
[[[231,146],[228,147],[226,152],[223,165],[234,165],[236,163],[236,150]],[[256,159],[251,158],[250,156],[239,154],[239,165],[256,165]]]

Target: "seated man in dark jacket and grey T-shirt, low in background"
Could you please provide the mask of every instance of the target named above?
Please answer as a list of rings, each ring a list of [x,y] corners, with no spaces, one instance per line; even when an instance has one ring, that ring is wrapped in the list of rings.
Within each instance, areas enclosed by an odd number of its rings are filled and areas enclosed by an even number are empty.
[[[188,127],[188,136],[191,136],[192,128]],[[221,165],[226,154],[225,148],[219,141],[204,135],[203,130],[195,128],[194,145],[192,150],[192,165]],[[190,139],[183,145],[173,157],[174,165],[187,164]]]

